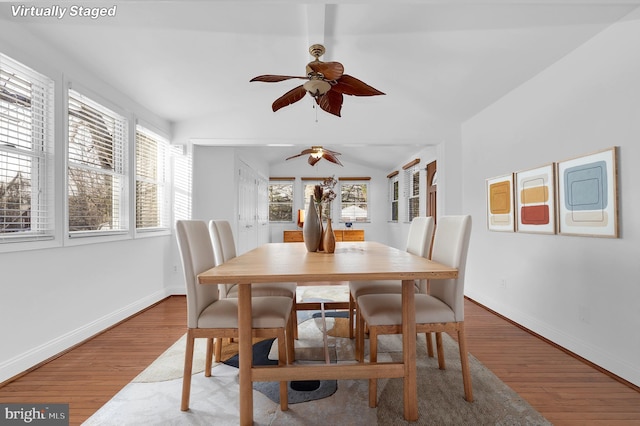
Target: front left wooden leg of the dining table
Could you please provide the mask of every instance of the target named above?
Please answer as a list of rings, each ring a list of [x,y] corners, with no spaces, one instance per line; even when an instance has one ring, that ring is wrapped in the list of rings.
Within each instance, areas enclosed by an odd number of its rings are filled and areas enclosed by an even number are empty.
[[[253,348],[251,330],[251,285],[238,284],[238,367],[240,381],[240,424],[253,424]]]

